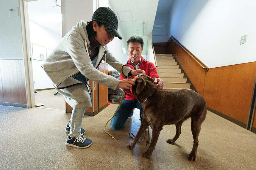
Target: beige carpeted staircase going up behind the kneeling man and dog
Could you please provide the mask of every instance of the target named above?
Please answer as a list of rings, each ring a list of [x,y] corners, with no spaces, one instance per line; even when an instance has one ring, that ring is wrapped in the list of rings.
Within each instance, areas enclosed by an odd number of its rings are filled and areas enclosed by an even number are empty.
[[[191,84],[188,83],[184,72],[182,72],[179,63],[172,54],[156,54],[157,73],[164,81],[164,90],[192,90]]]

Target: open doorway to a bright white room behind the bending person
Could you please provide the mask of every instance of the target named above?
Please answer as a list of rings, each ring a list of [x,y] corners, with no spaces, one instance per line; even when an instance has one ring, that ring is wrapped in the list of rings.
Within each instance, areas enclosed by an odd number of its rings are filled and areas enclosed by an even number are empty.
[[[29,23],[28,45],[31,49],[35,104],[40,108],[65,110],[63,96],[54,95],[56,90],[41,68],[41,64],[62,39],[60,3],[60,0],[27,1],[26,22]]]

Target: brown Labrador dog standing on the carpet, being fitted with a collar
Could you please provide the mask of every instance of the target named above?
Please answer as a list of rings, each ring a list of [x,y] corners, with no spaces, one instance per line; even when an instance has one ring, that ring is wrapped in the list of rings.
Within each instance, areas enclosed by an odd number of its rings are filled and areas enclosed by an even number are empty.
[[[155,149],[163,125],[175,124],[176,134],[174,138],[166,141],[169,144],[174,144],[181,134],[182,123],[191,117],[191,131],[194,143],[188,160],[196,161],[198,136],[201,124],[206,117],[206,102],[204,98],[199,93],[191,90],[161,90],[153,84],[153,81],[154,79],[149,76],[141,76],[136,79],[135,85],[132,87],[135,98],[141,102],[143,120],[133,142],[127,147],[133,149],[141,135],[150,125],[152,128],[151,143],[149,149],[142,155],[149,159]]]

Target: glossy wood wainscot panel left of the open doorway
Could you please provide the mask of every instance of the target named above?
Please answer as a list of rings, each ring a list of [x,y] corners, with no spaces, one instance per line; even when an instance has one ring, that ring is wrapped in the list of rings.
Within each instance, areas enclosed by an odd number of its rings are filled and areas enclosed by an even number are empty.
[[[23,60],[0,60],[4,102],[27,104]]]

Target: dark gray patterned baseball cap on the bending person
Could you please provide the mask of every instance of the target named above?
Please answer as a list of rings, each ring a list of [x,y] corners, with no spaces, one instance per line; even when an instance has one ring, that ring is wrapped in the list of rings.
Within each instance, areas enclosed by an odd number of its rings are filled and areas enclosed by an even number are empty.
[[[123,39],[119,34],[119,32],[117,31],[117,27],[118,27],[117,16],[110,8],[99,7],[93,13],[92,20],[102,23],[110,35],[116,36],[119,39]]]

